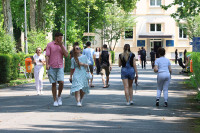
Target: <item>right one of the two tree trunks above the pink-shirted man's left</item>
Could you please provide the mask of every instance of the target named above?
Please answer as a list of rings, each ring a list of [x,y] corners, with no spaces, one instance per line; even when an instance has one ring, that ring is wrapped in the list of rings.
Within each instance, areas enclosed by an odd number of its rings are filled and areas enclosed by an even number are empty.
[[[38,30],[45,30],[45,19],[43,14],[45,6],[46,6],[46,0],[38,0],[38,17],[37,17]]]

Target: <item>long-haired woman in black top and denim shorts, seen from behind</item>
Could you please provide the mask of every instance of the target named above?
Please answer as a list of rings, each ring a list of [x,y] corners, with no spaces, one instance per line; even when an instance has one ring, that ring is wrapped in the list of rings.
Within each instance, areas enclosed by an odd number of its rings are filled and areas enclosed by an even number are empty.
[[[135,61],[135,54],[130,51],[130,45],[124,45],[124,52],[119,55],[119,67],[121,69],[121,79],[124,85],[126,105],[133,105],[133,80],[138,79],[138,72]],[[136,76],[135,76],[136,74]]]

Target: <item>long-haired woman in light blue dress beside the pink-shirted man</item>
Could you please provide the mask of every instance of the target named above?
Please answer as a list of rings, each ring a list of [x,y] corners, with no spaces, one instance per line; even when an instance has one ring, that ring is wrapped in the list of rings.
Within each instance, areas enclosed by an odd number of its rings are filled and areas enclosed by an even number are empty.
[[[73,56],[71,59],[71,73],[69,78],[70,82],[72,82],[70,94],[75,95],[77,106],[81,107],[84,95],[89,93],[86,72],[88,59],[85,55],[81,54],[81,48],[77,42],[73,45]]]

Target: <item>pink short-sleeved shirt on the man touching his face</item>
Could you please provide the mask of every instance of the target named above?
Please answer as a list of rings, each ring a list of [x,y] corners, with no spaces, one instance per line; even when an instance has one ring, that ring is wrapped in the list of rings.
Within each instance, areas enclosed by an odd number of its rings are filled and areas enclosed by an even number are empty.
[[[49,56],[48,64],[50,67],[63,68],[63,51],[59,45],[55,44],[55,41],[47,44],[46,56]]]

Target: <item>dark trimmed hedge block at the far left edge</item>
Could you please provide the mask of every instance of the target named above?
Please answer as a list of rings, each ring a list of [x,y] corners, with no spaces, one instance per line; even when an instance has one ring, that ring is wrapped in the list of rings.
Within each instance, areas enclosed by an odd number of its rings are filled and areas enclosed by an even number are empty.
[[[7,83],[11,80],[11,67],[12,58],[10,55],[0,54],[0,83]]]

